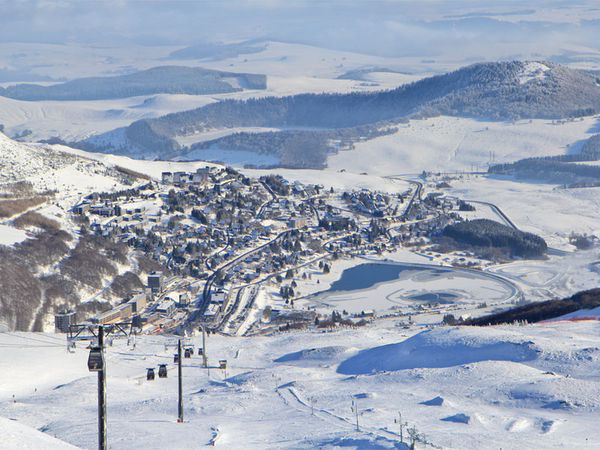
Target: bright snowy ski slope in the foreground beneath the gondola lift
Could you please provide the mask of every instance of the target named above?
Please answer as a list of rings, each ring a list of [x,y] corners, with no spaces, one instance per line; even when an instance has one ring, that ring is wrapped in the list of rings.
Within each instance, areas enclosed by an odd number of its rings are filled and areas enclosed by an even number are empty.
[[[108,448],[408,449],[413,430],[418,449],[599,448],[600,323],[585,319],[209,335],[209,369],[197,351],[183,359],[183,423],[178,337],[109,337]],[[86,344],[0,333],[4,448],[97,447]],[[198,349],[201,334],[184,345]],[[158,364],[168,377],[148,381]]]

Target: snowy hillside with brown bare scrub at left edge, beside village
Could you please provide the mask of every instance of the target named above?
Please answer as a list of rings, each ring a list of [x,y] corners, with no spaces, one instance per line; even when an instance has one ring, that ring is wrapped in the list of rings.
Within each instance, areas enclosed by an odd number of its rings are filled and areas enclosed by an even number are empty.
[[[140,182],[147,180],[118,164],[15,142],[0,133],[1,328],[52,329],[55,307],[93,296],[89,285],[61,269],[80,243],[82,222],[71,209],[92,192]],[[128,270],[121,264],[114,275]]]

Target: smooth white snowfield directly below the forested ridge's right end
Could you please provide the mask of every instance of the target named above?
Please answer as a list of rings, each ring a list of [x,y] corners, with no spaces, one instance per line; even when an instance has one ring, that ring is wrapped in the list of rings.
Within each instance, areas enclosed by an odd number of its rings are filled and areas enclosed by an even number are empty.
[[[457,117],[411,120],[398,132],[356,144],[328,158],[332,170],[376,175],[486,171],[491,164],[579,153],[600,131],[598,117],[565,124],[548,120],[487,122]],[[369,161],[366,165],[365,161]]]

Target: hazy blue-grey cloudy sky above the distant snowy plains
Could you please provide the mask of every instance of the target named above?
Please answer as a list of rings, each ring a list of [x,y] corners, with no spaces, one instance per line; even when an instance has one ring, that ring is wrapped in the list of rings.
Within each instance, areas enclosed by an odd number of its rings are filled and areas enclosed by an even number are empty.
[[[511,52],[597,50],[596,5],[590,0],[0,0],[0,40],[188,45],[268,38],[385,56],[460,50],[465,59],[503,46],[510,57]]]

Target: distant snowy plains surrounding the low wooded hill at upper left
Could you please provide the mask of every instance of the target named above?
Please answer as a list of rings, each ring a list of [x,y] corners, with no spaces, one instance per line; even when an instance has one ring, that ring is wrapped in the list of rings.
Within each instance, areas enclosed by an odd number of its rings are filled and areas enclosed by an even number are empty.
[[[261,73],[267,75],[267,89],[247,90],[230,94],[167,95],[130,97],[99,101],[19,101],[0,97],[0,123],[7,134],[14,135],[25,129],[33,132],[30,140],[60,136],[66,141],[87,138],[90,135],[124,127],[135,120],[159,117],[172,112],[198,108],[220,99],[247,99],[265,96],[283,96],[299,93],[355,92],[393,89],[399,85],[430,76],[431,71],[419,74],[372,73],[365,83],[361,80],[338,80],[339,75],[363,67],[384,67],[398,70],[398,59],[340,52],[301,44],[267,42],[262,52],[240,55],[224,61],[167,60],[173,47],[102,48],[85,46],[40,46],[31,44],[0,44],[0,57],[11,59],[19,51],[19,64],[33,64],[35,73],[52,77],[76,78],[111,76],[144,70],[159,65],[203,67],[228,72]],[[93,50],[93,51],[91,51]],[[10,52],[10,53],[9,53]],[[135,56],[132,56],[135,55]],[[104,63],[99,63],[104,58]],[[31,59],[31,61],[30,61]],[[61,61],[60,64],[57,61]],[[45,63],[42,65],[42,63]],[[73,67],[77,66],[77,70]],[[20,66],[19,66],[20,67]],[[2,83],[7,86],[15,83]],[[40,83],[48,84],[48,83]],[[193,139],[191,142],[195,142]],[[182,142],[183,143],[183,142]],[[189,145],[190,142],[185,142]]]

